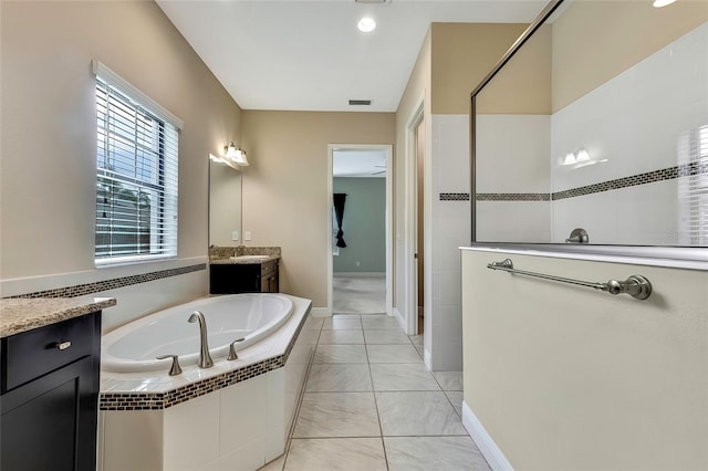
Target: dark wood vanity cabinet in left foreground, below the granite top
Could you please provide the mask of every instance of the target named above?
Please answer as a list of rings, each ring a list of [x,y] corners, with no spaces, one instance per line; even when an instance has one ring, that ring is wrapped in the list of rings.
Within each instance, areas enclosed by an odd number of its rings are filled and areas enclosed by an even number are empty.
[[[96,469],[101,313],[0,344],[0,469]]]

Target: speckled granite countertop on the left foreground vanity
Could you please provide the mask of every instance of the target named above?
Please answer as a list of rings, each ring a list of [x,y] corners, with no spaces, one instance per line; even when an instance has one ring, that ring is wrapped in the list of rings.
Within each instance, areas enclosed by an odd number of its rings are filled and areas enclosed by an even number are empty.
[[[115,304],[115,297],[93,296],[0,300],[0,337],[21,334]]]

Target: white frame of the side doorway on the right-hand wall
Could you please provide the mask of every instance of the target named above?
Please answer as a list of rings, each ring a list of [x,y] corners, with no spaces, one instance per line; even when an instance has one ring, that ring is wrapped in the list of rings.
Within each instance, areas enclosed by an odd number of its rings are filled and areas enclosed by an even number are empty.
[[[405,156],[405,236],[404,236],[404,270],[405,270],[405,317],[406,317],[406,334],[418,334],[418,276],[424,276],[424,273],[417,273],[418,266],[415,259],[415,254],[418,250],[418,231],[417,224],[425,223],[425,221],[418,221],[418,199],[417,199],[417,165],[418,159],[416,156],[416,128],[420,121],[424,118],[425,113],[425,96],[420,96],[415,111],[410,115],[408,123],[406,124],[406,156]],[[426,150],[428,147],[428,139],[426,136]],[[428,153],[424,156],[428,158]],[[428,265],[424,265],[428,266]],[[428,266],[429,269],[429,266]],[[417,274],[416,274],[417,273]]]

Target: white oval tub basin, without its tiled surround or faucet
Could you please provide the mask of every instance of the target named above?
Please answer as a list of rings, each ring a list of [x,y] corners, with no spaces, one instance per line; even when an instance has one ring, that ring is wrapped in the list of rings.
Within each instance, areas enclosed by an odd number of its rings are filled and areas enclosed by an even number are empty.
[[[282,294],[248,293],[205,297],[180,304],[104,335],[101,341],[101,369],[114,373],[167,371],[178,355],[181,366],[199,357],[199,327],[187,322],[200,311],[207,322],[209,352],[217,360],[226,357],[229,344],[243,338],[237,350],[256,344],[283,325],[293,312],[292,301]]]

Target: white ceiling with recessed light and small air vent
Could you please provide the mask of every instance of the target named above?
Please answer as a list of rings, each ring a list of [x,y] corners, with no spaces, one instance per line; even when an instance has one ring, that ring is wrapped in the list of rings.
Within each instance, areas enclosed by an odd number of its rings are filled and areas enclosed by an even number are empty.
[[[528,23],[545,3],[157,0],[241,108],[360,112],[397,109],[431,22]],[[356,29],[364,15],[371,33]]]

